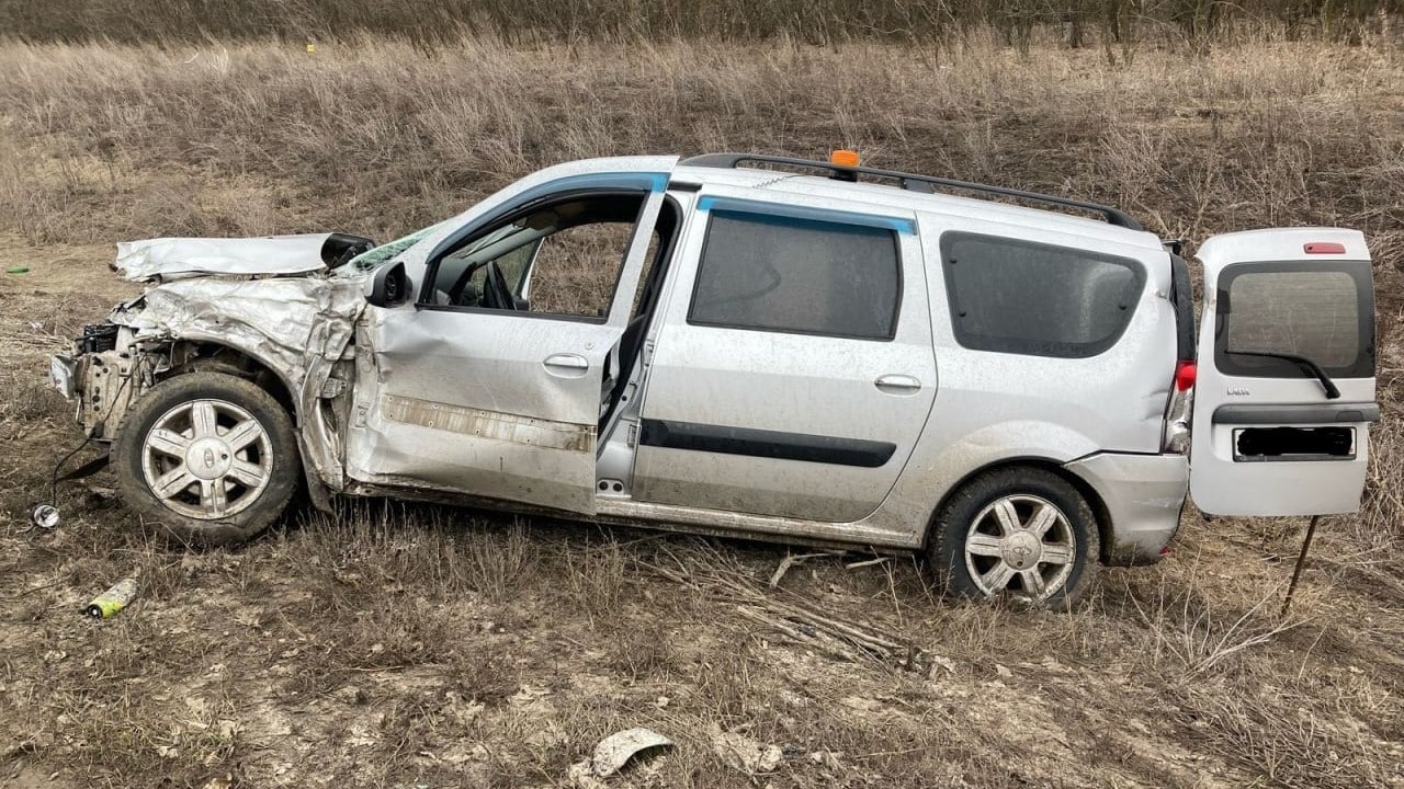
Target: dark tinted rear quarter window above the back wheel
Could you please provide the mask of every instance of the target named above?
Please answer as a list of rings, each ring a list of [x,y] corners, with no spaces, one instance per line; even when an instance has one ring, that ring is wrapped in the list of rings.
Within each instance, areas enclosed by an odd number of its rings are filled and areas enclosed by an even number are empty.
[[[941,258],[956,343],[977,351],[1095,357],[1146,282],[1130,258],[970,233],[942,236]]]

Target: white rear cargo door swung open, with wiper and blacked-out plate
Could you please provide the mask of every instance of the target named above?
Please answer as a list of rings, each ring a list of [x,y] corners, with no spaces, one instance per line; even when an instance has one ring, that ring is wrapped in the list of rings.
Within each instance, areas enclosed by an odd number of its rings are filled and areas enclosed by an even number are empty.
[[[1380,413],[1365,236],[1231,233],[1205,241],[1199,260],[1195,504],[1216,515],[1356,511]]]

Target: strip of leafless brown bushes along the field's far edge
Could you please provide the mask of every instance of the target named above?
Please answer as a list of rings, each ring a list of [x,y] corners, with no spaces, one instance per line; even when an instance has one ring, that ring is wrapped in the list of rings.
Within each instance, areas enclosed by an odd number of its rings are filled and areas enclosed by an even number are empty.
[[[931,41],[987,25],[1012,46],[1026,48],[1040,29],[1052,28],[1080,48],[1098,38],[1132,41],[1143,29],[1174,31],[1192,42],[1264,28],[1352,41],[1396,10],[1389,0],[11,0],[0,6],[0,29],[39,41],[336,39],[373,32],[441,42],[491,32],[517,42],[675,37],[830,42]]]

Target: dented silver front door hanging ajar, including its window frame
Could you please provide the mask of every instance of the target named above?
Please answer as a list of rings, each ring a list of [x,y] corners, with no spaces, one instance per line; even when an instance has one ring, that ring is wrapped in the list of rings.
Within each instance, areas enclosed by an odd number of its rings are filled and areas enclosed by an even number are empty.
[[[416,303],[366,309],[351,479],[594,512],[609,369],[663,204],[661,178],[636,180],[508,206],[430,256]]]

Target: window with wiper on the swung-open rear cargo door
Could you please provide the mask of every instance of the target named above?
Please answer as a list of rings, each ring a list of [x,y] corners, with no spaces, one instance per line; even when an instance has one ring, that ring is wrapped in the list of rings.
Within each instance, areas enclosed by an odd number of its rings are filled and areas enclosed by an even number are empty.
[[[1248,263],[1219,277],[1214,364],[1230,375],[1302,378],[1307,358],[1339,378],[1375,375],[1370,264]]]

